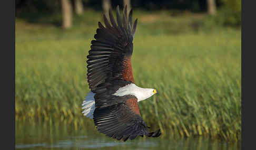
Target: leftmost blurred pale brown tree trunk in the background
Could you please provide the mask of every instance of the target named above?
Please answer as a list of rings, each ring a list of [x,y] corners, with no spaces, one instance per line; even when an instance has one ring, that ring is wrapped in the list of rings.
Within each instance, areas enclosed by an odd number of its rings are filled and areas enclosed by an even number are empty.
[[[72,27],[72,5],[70,0],[62,0],[62,27],[68,29]]]

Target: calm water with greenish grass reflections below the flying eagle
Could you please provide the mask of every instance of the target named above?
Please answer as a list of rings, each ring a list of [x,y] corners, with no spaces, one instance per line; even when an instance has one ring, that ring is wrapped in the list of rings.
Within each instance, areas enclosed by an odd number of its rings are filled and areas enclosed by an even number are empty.
[[[228,143],[209,138],[147,138],[136,137],[126,142],[97,132],[93,122],[16,121],[16,149],[241,149],[241,143]]]

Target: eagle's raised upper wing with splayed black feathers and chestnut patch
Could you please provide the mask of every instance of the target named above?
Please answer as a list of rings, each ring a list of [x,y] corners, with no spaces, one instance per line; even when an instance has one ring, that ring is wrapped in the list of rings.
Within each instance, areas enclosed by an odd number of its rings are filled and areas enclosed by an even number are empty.
[[[94,35],[96,40],[92,40],[91,50],[87,56],[87,80],[92,91],[108,79],[134,82],[131,56],[137,19],[132,26],[132,10],[129,13],[129,20],[127,20],[127,6],[123,12],[121,21],[119,6],[117,6],[117,24],[111,10],[109,15],[112,26],[105,15],[105,27],[99,22],[99,28]]]

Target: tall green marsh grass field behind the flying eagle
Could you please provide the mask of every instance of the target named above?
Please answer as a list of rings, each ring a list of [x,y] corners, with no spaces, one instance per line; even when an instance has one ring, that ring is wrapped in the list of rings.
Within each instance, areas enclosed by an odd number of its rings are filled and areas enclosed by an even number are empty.
[[[240,141],[241,30],[195,29],[206,16],[152,14],[134,13],[139,18],[132,57],[135,83],[157,90],[139,104],[143,120],[160,127],[162,137]],[[16,20],[17,120],[87,120],[81,114],[89,92],[86,56],[102,18],[87,10],[74,19],[66,31]]]

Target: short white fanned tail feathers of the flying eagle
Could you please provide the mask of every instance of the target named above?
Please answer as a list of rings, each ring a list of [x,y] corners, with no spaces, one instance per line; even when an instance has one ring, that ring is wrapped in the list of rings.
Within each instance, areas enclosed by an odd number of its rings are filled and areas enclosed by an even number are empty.
[[[93,93],[92,91],[90,91],[84,101],[83,101],[83,108],[84,111],[82,112],[86,117],[92,119],[93,118],[93,112],[95,110],[95,100],[94,100],[94,95],[95,93]]]

